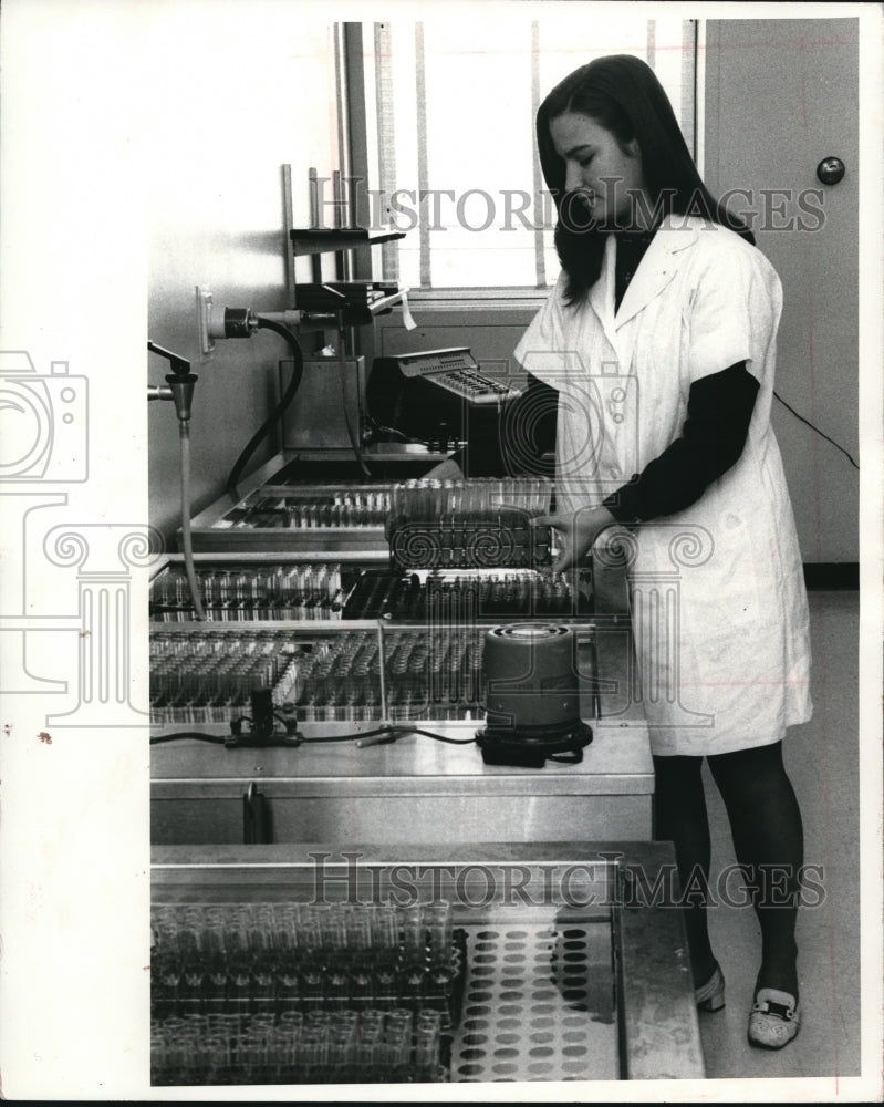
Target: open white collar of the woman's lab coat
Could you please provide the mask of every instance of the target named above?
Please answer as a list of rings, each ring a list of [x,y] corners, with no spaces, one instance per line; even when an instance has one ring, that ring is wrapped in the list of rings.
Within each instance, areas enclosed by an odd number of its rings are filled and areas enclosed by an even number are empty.
[[[623,296],[616,315],[614,315],[616,235],[607,236],[602,272],[590,291],[590,304],[612,345],[615,348],[617,345],[615,332],[666,288],[678,268],[675,255],[694,246],[705,226],[706,221],[696,216],[667,215],[663,219],[632,283]]]

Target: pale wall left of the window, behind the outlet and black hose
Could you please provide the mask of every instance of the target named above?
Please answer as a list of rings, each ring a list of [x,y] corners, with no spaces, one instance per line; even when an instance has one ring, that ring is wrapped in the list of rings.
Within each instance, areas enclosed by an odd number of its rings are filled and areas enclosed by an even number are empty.
[[[295,221],[309,219],[308,168],[334,167],[331,29],[301,4],[152,3],[147,22],[156,83],[149,134],[148,337],[188,358],[199,376],[191,422],[193,513],[222,494],[240,451],[278,395],[284,343],[263,331],[216,343],[200,363],[195,286],[225,306],[288,306],[282,170],[292,165]],[[181,82],[176,80],[181,75]],[[308,279],[301,272],[299,278]],[[148,380],[167,363],[148,356]],[[171,404],[148,410],[150,521],[180,524],[178,425]],[[254,467],[278,448],[257,452]],[[248,472],[248,470],[247,470]]]

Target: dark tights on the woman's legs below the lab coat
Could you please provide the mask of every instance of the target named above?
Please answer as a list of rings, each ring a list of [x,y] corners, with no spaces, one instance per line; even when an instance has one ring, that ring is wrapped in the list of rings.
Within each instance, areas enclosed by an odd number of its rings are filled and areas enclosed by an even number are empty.
[[[757,986],[798,995],[795,915],[803,863],[801,813],[782,763],[782,743],[717,754],[708,759],[730,820],[737,860],[761,927],[761,969]],[[703,789],[703,757],[655,757],[654,835],[673,841],[685,891],[690,962],[696,984],[715,969],[706,902],[710,845]],[[739,889],[730,880],[731,894]],[[711,902],[721,897],[713,893]]]

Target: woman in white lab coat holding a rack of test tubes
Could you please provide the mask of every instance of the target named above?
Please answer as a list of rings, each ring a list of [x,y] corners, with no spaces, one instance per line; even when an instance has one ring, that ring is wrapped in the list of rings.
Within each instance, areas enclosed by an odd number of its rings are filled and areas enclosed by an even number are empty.
[[[769,422],[780,282],[704,187],[644,62],[572,73],[537,128],[562,273],[516,350],[529,387],[500,454],[471,448],[465,465],[524,469],[554,437],[557,515],[538,521],[563,538],[559,569],[605,528],[632,530],[655,836],[674,841],[683,888],[705,888],[706,758],[761,927],[749,1041],[780,1048],[800,1023],[803,849],[782,738],[811,714],[807,596]],[[719,1010],[705,897],[685,914],[697,1003]]]

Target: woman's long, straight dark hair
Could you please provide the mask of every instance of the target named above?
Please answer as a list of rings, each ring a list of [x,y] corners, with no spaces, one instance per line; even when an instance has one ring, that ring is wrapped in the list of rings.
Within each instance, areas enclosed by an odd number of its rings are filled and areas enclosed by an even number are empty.
[[[669,99],[651,66],[630,54],[599,58],[558,84],[537,116],[540,166],[558,211],[555,248],[568,273],[568,303],[583,300],[599,279],[611,228],[580,225],[568,217],[572,205],[564,188],[565,165],[550,135],[551,122],[565,112],[590,116],[621,146],[637,142],[653,211],[701,216],[755,242],[746,224],[714,199],[700,179]]]

